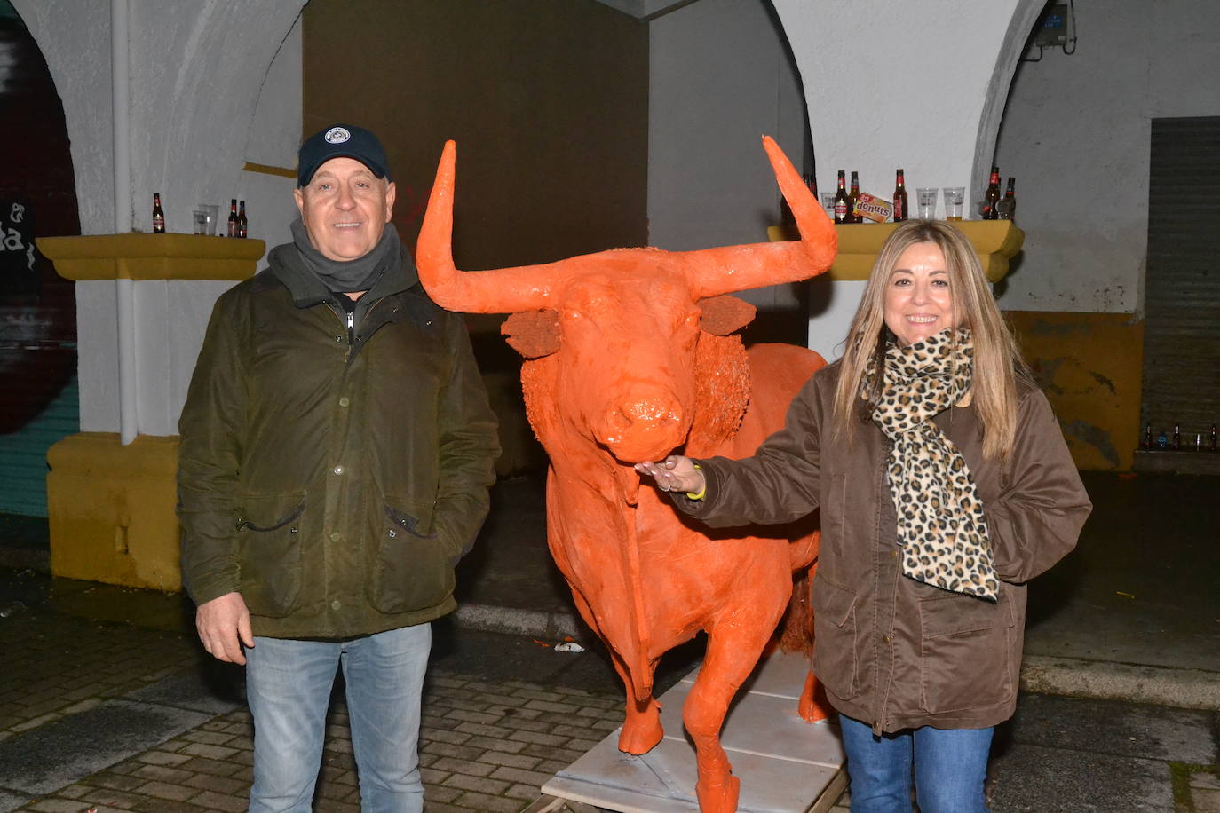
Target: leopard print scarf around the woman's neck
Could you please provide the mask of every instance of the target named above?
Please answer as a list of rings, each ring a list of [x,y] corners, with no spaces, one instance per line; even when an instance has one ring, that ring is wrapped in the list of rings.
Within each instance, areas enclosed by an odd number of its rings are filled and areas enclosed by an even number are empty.
[[[886,468],[903,573],[996,601],[999,581],[975,478],[958,447],[932,423],[970,391],[974,345],[969,329],[958,330],[956,347],[949,328],[886,350],[884,385],[872,419],[894,444]],[[870,369],[869,380],[875,375]]]

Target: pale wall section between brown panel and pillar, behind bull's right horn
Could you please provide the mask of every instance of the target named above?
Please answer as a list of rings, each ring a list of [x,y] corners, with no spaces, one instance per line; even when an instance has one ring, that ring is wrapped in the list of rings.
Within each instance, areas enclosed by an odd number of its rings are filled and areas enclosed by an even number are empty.
[[[780,193],[761,137],[799,167],[803,104],[769,0],[700,0],[649,23],[649,244],[765,243]],[[797,302],[787,285],[743,299]]]

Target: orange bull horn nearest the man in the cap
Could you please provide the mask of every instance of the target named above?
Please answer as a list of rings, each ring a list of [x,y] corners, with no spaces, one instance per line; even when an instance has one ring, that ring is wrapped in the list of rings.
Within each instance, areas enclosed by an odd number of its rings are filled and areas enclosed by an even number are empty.
[[[415,260],[420,282],[432,301],[467,313],[520,313],[547,307],[560,263],[497,271],[458,271],[454,266],[454,162],[456,144],[445,141],[428,210],[420,227]]]

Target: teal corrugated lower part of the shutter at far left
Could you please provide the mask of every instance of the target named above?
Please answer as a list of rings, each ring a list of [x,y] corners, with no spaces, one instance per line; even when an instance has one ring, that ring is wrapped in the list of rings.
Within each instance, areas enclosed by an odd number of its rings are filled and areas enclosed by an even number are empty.
[[[46,516],[46,450],[81,431],[81,394],[72,377],[38,417],[0,435],[0,513]]]

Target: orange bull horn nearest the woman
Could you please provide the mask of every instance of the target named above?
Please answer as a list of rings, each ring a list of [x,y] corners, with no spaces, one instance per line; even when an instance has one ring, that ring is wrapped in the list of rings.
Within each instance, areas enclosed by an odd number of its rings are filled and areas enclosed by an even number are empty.
[[[762,285],[794,283],[825,272],[834,262],[838,235],[825,210],[800,179],[780,145],[762,137],[775,179],[800,229],[800,240],[753,243],[684,251],[688,277],[699,296],[719,296]]]

